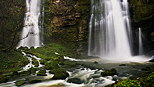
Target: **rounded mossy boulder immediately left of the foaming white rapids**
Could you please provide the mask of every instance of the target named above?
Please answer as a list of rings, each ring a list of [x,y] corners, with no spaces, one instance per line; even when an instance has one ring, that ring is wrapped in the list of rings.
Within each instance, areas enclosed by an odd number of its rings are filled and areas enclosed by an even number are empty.
[[[50,73],[54,74],[52,79],[66,79],[69,76],[68,72],[60,68],[53,69]]]

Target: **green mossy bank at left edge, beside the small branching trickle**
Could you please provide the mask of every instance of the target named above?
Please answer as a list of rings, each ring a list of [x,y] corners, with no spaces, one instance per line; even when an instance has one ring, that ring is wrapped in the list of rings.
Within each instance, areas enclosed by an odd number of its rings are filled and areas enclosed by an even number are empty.
[[[21,70],[29,63],[28,59],[18,51],[0,52],[0,62],[0,73]]]

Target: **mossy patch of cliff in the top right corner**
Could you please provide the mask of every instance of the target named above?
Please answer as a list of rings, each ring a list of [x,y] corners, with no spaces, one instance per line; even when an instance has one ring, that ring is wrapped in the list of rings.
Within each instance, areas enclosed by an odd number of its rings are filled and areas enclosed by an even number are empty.
[[[130,6],[134,10],[134,21],[140,22],[154,17],[154,4],[146,0],[130,0]]]

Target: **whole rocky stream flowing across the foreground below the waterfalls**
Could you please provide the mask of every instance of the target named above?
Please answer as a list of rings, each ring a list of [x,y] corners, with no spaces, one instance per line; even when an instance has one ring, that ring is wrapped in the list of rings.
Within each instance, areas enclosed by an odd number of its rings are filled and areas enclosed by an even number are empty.
[[[40,63],[41,58],[37,58],[34,55],[26,54],[25,52],[22,52],[24,56],[27,57],[29,60],[29,63],[22,68],[22,70],[18,72],[27,71],[30,68],[41,68],[44,65]],[[58,53],[55,53],[59,55]],[[33,59],[35,59],[38,62],[38,66],[33,65]],[[139,73],[142,73],[143,68],[150,67],[150,69],[153,69],[154,65],[152,63],[148,62],[131,62],[131,63],[108,63],[103,60],[100,60],[100,58],[92,58],[92,59],[74,59],[64,56],[64,59],[70,60],[70,61],[76,61],[80,64],[84,64],[85,66],[82,68],[76,68],[71,71],[67,71],[69,73],[69,77],[67,77],[65,80],[51,80],[51,78],[54,76],[53,74],[49,73],[49,70],[46,70],[47,76],[37,76],[37,73],[39,71],[36,71],[34,75],[28,76],[26,78],[19,78],[11,82],[7,83],[1,83],[0,87],[18,87],[16,86],[16,82],[21,80],[28,79],[44,79],[44,81],[39,83],[33,83],[33,84],[24,84],[20,87],[104,87],[110,84],[115,83],[116,81],[119,81],[120,79],[126,79],[127,77],[137,75]],[[94,62],[97,62],[97,64],[94,64]],[[94,67],[94,69],[91,69],[89,67]],[[102,68],[103,67],[103,68]],[[112,69],[115,68],[118,72],[118,75],[113,76],[101,76],[101,72],[104,72],[105,69]],[[154,71],[154,70],[153,70]]]

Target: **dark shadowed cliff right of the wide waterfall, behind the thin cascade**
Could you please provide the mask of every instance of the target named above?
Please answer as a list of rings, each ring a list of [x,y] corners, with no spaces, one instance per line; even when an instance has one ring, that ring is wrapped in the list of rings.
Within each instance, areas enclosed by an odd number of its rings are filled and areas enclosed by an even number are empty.
[[[145,53],[154,50],[154,0],[129,0],[134,35],[138,45],[138,28],[142,29]]]

